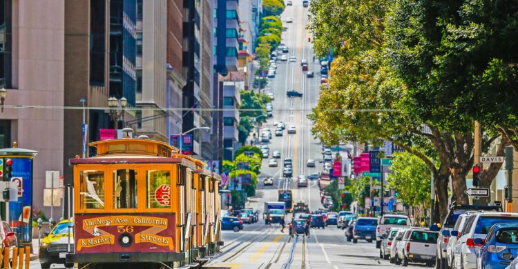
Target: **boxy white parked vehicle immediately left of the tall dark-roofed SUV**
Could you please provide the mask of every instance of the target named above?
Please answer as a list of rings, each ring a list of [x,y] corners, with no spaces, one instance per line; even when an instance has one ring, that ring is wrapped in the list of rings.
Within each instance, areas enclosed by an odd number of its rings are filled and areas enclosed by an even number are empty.
[[[421,262],[426,263],[427,266],[433,266],[437,237],[439,237],[439,232],[423,228],[409,228],[396,247],[396,263],[407,266],[409,262]]]

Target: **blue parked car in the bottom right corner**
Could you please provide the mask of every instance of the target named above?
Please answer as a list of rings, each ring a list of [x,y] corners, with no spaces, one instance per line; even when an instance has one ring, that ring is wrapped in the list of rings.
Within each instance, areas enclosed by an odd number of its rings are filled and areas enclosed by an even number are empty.
[[[518,253],[518,223],[496,223],[486,240],[477,238],[474,243],[483,244],[477,255],[477,268],[505,268]]]

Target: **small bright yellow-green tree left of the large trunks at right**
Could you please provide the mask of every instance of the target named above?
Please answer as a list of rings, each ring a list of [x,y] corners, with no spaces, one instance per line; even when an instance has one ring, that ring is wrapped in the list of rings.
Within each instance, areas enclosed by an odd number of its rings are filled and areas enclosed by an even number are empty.
[[[430,168],[421,159],[408,152],[393,156],[392,173],[388,186],[398,193],[398,198],[409,206],[422,208],[430,205]]]

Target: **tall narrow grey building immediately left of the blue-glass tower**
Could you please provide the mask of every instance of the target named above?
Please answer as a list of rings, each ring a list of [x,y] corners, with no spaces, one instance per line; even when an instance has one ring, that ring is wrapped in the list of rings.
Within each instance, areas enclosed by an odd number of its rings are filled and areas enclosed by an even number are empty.
[[[183,70],[186,85],[183,88],[182,107],[187,109],[182,114],[182,132],[193,128],[210,127],[212,113],[210,109],[213,96],[211,94],[212,76],[212,2],[184,0],[183,17]],[[201,159],[211,159],[212,146],[210,137],[213,129],[207,134],[202,130],[190,132],[192,135],[193,154]],[[207,149],[202,150],[202,143]]]

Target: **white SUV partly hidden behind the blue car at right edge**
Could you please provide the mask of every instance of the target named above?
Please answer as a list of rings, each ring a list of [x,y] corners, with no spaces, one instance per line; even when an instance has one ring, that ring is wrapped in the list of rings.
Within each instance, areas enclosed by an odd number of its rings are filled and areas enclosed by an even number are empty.
[[[475,243],[474,239],[486,238],[488,231],[496,223],[518,223],[518,213],[486,211],[470,215],[454,246],[452,264],[455,268],[477,268],[477,252],[482,245]]]

